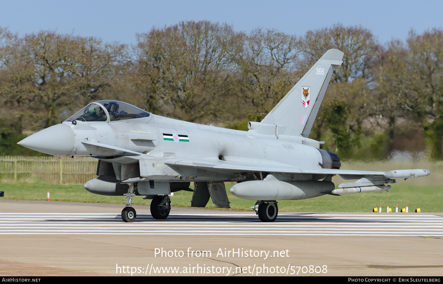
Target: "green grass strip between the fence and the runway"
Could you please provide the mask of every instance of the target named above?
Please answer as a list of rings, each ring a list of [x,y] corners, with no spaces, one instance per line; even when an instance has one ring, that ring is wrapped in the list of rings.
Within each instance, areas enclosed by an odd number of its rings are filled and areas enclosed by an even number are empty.
[[[234,210],[250,211],[254,200],[243,200],[232,196],[227,184],[230,205]],[[4,197],[0,200],[47,200],[47,191],[50,191],[52,201],[75,201],[91,203],[117,203],[123,196],[101,196],[86,192],[82,184],[54,185],[41,182],[35,183],[3,183],[1,191]],[[171,196],[173,206],[190,207],[192,192],[175,192]],[[142,196],[136,196],[134,204],[150,204],[151,200],[143,200]],[[386,206],[404,208],[409,206],[411,212],[420,208],[422,212],[443,212],[443,186],[405,185],[392,186],[391,193],[368,192],[351,193],[342,196],[320,196],[305,200],[281,200],[278,201],[280,212],[370,212],[374,207],[381,205],[383,211]],[[206,208],[215,208],[211,200]]]

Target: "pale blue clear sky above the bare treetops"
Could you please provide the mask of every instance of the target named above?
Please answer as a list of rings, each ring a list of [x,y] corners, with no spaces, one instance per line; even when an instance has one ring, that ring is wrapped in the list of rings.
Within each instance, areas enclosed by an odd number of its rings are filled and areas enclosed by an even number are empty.
[[[60,33],[96,36],[107,42],[135,43],[137,32],[182,20],[232,24],[237,31],[275,28],[303,35],[341,22],[361,24],[380,42],[404,40],[414,28],[442,27],[443,1],[11,1],[0,0],[0,26],[20,35],[57,29]]]

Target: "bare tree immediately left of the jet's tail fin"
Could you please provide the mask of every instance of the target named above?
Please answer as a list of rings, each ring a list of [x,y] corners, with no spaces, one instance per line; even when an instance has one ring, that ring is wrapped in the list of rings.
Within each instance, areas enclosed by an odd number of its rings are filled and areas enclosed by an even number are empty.
[[[295,35],[275,29],[253,30],[237,55],[243,81],[247,82],[242,98],[250,101],[260,114],[268,114],[301,77],[295,67],[299,54]]]

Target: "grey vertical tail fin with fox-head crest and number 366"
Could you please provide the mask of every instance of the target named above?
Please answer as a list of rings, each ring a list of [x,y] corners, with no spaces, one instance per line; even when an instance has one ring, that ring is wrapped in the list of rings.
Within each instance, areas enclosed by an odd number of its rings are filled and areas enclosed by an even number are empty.
[[[295,84],[261,123],[286,126],[284,135],[307,137],[314,124],[323,96],[343,52],[330,49]]]

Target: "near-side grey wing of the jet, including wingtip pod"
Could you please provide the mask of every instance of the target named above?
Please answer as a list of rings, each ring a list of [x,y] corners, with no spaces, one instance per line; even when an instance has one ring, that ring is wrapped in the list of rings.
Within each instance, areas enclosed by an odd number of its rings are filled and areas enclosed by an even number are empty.
[[[227,157],[226,157],[227,158]],[[226,159],[228,160],[228,159]],[[293,174],[321,174],[321,175],[340,175],[344,179],[359,179],[364,176],[385,176],[388,178],[409,178],[424,177],[430,174],[427,170],[411,169],[396,170],[388,172],[377,171],[357,171],[346,169],[315,169],[303,168],[277,161],[256,158],[239,158],[223,161],[216,158],[196,158],[196,159],[170,159],[165,164],[172,166],[182,166],[189,168],[224,171],[230,173],[248,173],[248,172],[268,172],[268,173],[293,173]]]

